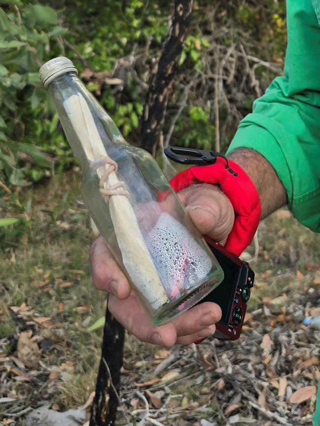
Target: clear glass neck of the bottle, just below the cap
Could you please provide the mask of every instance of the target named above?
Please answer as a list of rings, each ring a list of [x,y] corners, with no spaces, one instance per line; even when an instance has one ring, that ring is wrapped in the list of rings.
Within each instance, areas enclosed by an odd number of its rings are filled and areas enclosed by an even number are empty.
[[[126,143],[113,120],[77,77],[65,73],[49,87],[66,138],[83,170]]]

